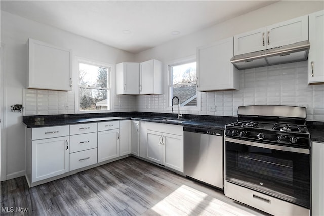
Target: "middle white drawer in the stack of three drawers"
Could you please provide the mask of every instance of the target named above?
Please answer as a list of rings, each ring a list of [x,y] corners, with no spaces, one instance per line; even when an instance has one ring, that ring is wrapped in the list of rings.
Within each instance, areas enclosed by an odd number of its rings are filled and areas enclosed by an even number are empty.
[[[97,148],[97,132],[70,136],[70,153]]]

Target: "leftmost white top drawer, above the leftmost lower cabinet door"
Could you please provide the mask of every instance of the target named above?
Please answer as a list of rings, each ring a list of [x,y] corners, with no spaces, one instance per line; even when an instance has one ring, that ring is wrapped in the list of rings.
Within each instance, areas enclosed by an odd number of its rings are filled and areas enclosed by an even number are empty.
[[[32,140],[53,138],[53,137],[62,137],[69,135],[69,126],[55,126],[55,127],[41,127],[41,128],[32,128],[31,137]]]

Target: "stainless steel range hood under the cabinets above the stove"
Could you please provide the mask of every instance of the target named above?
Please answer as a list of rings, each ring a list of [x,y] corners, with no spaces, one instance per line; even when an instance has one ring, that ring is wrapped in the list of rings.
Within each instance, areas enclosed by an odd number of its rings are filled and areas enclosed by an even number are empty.
[[[231,63],[233,63],[238,70],[244,70],[289,62],[305,61],[308,58],[309,47],[308,41],[298,42],[296,44],[236,55],[231,58]]]

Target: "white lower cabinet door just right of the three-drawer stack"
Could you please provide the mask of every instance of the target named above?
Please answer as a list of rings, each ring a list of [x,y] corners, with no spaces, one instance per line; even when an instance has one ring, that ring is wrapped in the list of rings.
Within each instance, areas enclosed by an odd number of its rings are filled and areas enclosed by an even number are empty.
[[[98,132],[98,163],[119,157],[119,129]]]

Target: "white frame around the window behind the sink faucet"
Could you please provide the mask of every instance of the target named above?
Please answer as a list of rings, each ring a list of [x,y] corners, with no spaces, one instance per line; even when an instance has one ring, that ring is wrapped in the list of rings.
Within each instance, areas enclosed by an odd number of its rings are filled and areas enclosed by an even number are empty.
[[[197,59],[196,59],[195,55],[180,58],[180,59],[175,59],[175,60],[167,62],[167,64],[166,64],[167,74],[168,74],[168,107],[167,107],[168,111],[169,110],[171,111],[171,100],[172,100],[172,98],[171,98],[171,87],[173,86],[171,67],[186,64],[186,63],[191,63],[191,62],[197,62]],[[196,75],[197,74],[198,73],[196,71]],[[185,84],[183,84],[183,85],[185,85]],[[182,107],[180,107],[180,112],[181,111],[201,111],[201,92],[199,92],[199,91],[196,91],[196,92],[197,92],[197,106],[196,107],[182,106]],[[174,112],[178,111],[178,105],[173,106],[173,109],[174,109]]]

